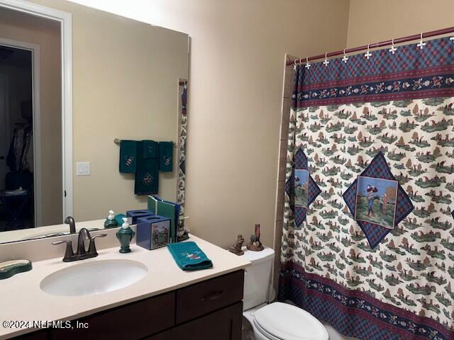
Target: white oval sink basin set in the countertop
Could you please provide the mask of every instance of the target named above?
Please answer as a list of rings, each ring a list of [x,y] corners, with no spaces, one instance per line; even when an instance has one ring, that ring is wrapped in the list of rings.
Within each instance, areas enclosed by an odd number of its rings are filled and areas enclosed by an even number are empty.
[[[76,264],[46,276],[41,281],[40,288],[51,295],[94,295],[128,287],[147,273],[147,266],[138,261],[91,261]]]

